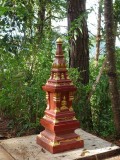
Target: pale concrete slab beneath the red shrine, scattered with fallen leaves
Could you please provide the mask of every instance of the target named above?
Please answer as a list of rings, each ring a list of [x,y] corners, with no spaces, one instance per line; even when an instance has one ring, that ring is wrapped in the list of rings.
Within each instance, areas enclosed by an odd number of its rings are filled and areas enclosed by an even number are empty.
[[[81,129],[77,129],[76,133],[84,139],[84,148],[58,154],[51,154],[37,145],[36,135],[2,140],[0,141],[0,145],[5,148],[15,160],[99,160],[120,154],[120,147],[112,143]]]

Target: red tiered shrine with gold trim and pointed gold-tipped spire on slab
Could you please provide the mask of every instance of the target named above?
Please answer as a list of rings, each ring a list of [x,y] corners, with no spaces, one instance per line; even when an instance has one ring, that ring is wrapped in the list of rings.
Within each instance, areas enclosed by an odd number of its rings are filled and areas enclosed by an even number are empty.
[[[37,144],[51,153],[83,147],[84,141],[74,132],[80,126],[72,108],[76,87],[67,73],[60,38],[51,76],[42,88],[46,92],[47,108],[40,121],[45,130],[37,136]]]

